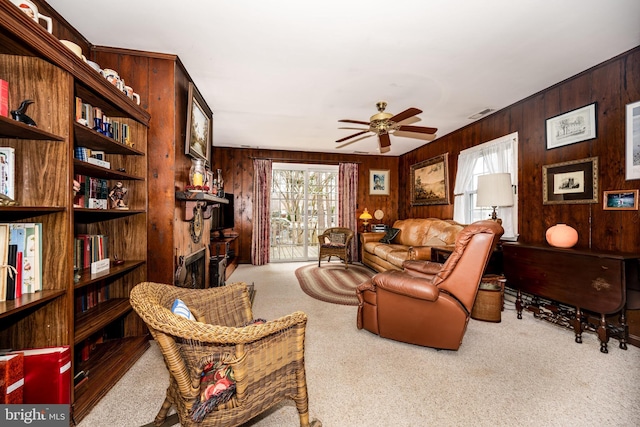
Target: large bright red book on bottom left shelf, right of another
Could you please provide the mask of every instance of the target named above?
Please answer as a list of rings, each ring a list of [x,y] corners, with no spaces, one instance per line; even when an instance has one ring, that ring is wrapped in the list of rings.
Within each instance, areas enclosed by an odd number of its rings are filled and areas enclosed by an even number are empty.
[[[69,346],[20,350],[24,355],[23,403],[71,403],[71,349]]]

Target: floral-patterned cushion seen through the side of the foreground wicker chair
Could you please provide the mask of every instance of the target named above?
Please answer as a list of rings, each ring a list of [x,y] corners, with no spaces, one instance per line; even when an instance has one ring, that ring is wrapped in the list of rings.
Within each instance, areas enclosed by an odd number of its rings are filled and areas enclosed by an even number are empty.
[[[235,393],[233,368],[221,360],[206,363],[200,374],[200,396],[191,408],[191,419],[201,422],[216,406],[229,401]]]

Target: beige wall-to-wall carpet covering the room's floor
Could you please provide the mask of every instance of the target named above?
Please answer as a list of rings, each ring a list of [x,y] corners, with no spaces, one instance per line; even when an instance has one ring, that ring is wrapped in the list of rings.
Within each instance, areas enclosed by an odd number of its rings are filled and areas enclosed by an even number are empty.
[[[356,328],[356,308],[306,295],[304,264],[241,265],[231,281],[255,282],[254,314],[309,315],[306,367],[312,417],[324,427],[638,426],[640,349],[597,337],[576,344],[567,329],[507,310],[501,323],[470,320],[460,350],[437,351]],[[168,373],[155,343],[80,423],[141,426],[153,421]],[[298,425],[293,403],[251,424]]]

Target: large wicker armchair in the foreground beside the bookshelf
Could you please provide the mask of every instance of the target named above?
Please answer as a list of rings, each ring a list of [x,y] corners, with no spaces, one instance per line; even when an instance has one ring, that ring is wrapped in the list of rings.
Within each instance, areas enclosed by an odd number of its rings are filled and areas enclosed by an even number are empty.
[[[176,298],[185,302],[197,321],[171,312]],[[253,320],[245,283],[185,289],[144,282],[133,288],[130,300],[157,341],[170,373],[155,425],[162,425],[175,406],[183,426],[237,426],[284,399],[295,402],[300,426],[322,425],[318,420],[309,422],[303,312],[243,326]],[[216,355],[233,368],[236,394],[195,422],[190,411],[200,395],[202,361]]]

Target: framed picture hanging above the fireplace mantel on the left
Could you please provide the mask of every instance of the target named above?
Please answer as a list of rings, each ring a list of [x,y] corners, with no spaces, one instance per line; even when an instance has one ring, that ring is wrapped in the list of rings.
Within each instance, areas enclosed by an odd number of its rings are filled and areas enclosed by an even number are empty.
[[[189,82],[187,107],[187,138],[184,153],[203,159],[207,167],[211,161],[212,113],[196,86]]]

